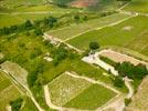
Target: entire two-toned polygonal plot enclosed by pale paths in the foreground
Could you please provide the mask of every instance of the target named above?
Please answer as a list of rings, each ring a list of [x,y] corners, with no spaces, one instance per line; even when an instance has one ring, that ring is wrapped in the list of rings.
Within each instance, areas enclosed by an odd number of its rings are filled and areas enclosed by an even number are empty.
[[[51,101],[55,105],[95,110],[116,95],[109,89],[66,72],[49,83]]]

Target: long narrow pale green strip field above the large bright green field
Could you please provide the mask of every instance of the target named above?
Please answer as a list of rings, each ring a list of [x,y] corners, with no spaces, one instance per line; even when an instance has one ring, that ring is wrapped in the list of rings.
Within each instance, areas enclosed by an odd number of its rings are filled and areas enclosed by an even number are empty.
[[[87,32],[89,30],[94,30],[94,29],[107,26],[109,23],[117,22],[117,21],[126,19],[129,16],[127,16],[127,14],[115,13],[115,14],[112,14],[112,16],[108,16],[108,17],[105,17],[102,19],[89,20],[87,22],[80,23],[80,24],[73,24],[73,26],[70,26],[70,27],[66,27],[66,28],[63,28],[60,30],[49,31],[47,33],[55,38],[65,40],[65,39],[75,37],[77,34]]]

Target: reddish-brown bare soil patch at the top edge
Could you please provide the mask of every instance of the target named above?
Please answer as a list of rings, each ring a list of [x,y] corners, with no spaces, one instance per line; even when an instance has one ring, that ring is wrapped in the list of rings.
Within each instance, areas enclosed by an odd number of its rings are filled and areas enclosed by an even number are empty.
[[[76,0],[70,6],[75,8],[87,8],[89,6],[95,6],[98,0]]]

